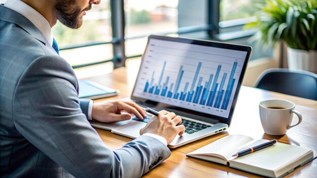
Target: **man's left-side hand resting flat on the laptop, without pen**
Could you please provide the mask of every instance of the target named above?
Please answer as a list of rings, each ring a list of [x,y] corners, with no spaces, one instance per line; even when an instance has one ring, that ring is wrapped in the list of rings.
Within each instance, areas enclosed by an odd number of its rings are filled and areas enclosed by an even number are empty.
[[[94,103],[92,118],[99,122],[114,122],[131,119],[130,114],[121,114],[121,111],[134,114],[139,119],[146,117],[143,108],[134,102],[114,101],[107,103]]]

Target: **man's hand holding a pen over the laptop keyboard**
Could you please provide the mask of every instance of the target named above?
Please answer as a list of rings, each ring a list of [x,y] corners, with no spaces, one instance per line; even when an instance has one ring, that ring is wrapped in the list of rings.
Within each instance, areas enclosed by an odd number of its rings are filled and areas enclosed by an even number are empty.
[[[184,125],[178,125],[182,122],[180,116],[176,116],[173,112],[160,111],[158,116],[153,116],[147,122],[145,127],[141,128],[140,135],[144,133],[153,133],[166,139],[169,145],[176,135],[182,136],[185,131]]]

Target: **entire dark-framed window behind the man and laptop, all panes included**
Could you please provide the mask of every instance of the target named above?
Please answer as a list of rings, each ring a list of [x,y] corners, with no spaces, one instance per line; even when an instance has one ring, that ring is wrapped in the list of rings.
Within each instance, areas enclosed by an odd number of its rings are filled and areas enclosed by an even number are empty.
[[[87,76],[110,72],[126,65],[126,60],[140,57],[150,34],[248,44],[254,49],[251,58],[256,59],[271,56],[272,50],[255,48],[249,40],[255,30],[243,26],[254,20],[254,7],[264,1],[106,0],[93,6],[80,29],[58,23],[53,33],[61,56],[75,71],[88,71]],[[96,65],[98,70],[93,68]]]

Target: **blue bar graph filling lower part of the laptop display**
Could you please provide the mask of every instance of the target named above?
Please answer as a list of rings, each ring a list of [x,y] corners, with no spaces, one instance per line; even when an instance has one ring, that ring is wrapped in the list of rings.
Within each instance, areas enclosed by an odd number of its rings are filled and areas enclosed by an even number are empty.
[[[228,68],[225,68],[226,70],[222,69],[222,64],[218,65],[215,73],[209,73],[206,76],[205,72],[202,76],[200,71],[203,70],[203,63],[199,62],[197,67],[195,67],[196,70],[191,71],[193,75],[192,82],[188,81],[189,76],[186,74],[187,70],[184,70],[183,65],[181,65],[178,69],[176,79],[171,78],[171,71],[168,71],[166,66],[167,62],[165,61],[160,75],[156,75],[156,78],[158,79],[156,80],[157,82],[154,82],[155,72],[152,72],[151,78],[148,78],[145,82],[143,89],[144,93],[227,110],[236,80],[233,77],[237,67],[237,62],[233,62],[229,78],[227,78],[228,73],[225,72],[228,71]],[[226,88],[224,89],[225,85]]]

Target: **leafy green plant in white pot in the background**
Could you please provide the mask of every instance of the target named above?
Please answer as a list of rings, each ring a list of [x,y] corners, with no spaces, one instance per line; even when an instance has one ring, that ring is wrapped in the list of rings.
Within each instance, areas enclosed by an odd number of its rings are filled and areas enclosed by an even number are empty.
[[[257,19],[247,24],[258,29],[254,39],[286,42],[289,68],[317,73],[316,0],[266,0]]]

